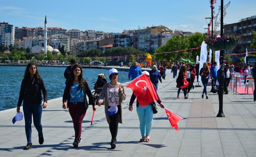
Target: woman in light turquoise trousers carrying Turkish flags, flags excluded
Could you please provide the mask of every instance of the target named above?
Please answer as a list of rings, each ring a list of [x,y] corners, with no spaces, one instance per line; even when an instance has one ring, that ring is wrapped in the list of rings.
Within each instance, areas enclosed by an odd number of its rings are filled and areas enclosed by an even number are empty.
[[[143,71],[142,75],[145,74],[148,75],[149,77],[149,73],[147,71]],[[152,83],[154,90],[156,91],[156,86]],[[164,104],[162,103],[160,97],[157,94],[156,91],[156,96],[158,98],[157,102],[160,105],[161,108],[164,108]],[[133,107],[132,104],[135,100],[136,96],[134,95],[134,93],[132,93],[131,99],[130,99],[130,103],[129,103],[129,110],[132,111]],[[155,103],[154,101],[152,103]],[[140,139],[140,142],[149,142],[150,141],[150,137],[149,137],[149,133],[151,131],[152,128],[152,121],[153,121],[153,110],[152,110],[152,106],[151,103],[146,105],[146,106],[142,106],[138,103],[138,100],[136,102],[136,111],[139,117],[139,121],[140,121],[140,133],[142,138]]]

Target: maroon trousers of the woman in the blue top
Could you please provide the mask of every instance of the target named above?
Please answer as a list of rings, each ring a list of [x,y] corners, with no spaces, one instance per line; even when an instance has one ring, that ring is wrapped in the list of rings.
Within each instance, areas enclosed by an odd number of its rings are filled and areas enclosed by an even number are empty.
[[[75,140],[79,141],[82,132],[82,122],[86,114],[86,109],[84,108],[84,103],[72,104],[68,106],[68,112],[72,118],[74,130],[75,130]]]

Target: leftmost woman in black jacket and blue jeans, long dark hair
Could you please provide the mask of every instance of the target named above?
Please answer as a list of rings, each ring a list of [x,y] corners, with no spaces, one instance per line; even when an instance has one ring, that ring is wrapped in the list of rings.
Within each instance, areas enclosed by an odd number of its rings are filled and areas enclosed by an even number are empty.
[[[44,95],[44,102],[42,103],[42,94]],[[42,108],[47,106],[47,90],[44,85],[44,80],[40,77],[36,64],[28,63],[24,78],[20,87],[20,96],[17,104],[17,112],[20,112],[20,106],[23,101],[23,112],[25,119],[25,132],[27,137],[27,145],[24,147],[25,150],[32,148],[31,140],[31,124],[32,124],[32,115],[33,122],[36,130],[38,131],[39,144],[44,143],[41,116]]]

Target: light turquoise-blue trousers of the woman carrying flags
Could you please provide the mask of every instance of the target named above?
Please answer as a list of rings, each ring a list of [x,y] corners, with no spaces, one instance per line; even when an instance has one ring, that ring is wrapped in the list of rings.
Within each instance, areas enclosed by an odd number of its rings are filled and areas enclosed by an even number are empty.
[[[140,120],[141,136],[149,135],[153,121],[152,106],[147,105],[144,108],[141,108],[139,105],[138,107],[136,107],[136,111]]]

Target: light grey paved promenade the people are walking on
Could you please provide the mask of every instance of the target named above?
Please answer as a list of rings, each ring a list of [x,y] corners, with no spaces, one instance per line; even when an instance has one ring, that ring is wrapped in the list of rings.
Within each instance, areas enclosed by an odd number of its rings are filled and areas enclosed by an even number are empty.
[[[143,70],[142,70],[143,71]],[[256,156],[256,102],[252,94],[223,95],[225,117],[216,117],[218,95],[208,92],[202,99],[203,87],[190,91],[188,99],[183,92],[176,99],[176,78],[167,70],[166,79],[158,85],[158,95],[166,108],[184,116],[178,129],[170,126],[164,109],[154,114],[150,142],[142,142],[136,110],[128,104],[132,90],[125,88],[124,123],[119,124],[116,148],[110,148],[111,135],[104,114],[104,106],[97,108],[92,120],[89,106],[82,124],[82,141],[72,146],[74,129],[68,110],[62,109],[62,98],[48,101],[42,112],[44,143],[38,143],[38,134],[32,124],[33,149],[26,145],[24,119],[12,124],[16,108],[0,111],[0,156],[10,157],[255,157]],[[128,73],[127,73],[128,75]],[[194,82],[196,85],[197,82]],[[202,84],[201,84],[202,85]],[[208,86],[208,91],[210,91]],[[135,108],[134,102],[134,108]],[[21,111],[22,107],[21,107]]]

